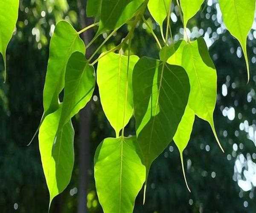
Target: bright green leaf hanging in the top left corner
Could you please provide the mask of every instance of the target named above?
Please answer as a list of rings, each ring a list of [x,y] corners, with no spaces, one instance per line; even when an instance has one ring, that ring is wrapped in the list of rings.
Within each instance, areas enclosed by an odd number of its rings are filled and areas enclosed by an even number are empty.
[[[0,1],[0,53],[4,62],[4,81],[6,81],[6,48],[15,29],[18,9],[19,0]]]

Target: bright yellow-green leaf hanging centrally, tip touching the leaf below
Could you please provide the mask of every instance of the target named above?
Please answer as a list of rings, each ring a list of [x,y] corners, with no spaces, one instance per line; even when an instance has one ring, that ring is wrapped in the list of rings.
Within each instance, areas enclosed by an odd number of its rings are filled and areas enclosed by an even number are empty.
[[[130,56],[128,76],[128,57],[125,55],[112,52],[102,57],[98,63],[97,83],[102,108],[117,137],[123,124],[125,126],[128,123],[133,113],[132,72],[138,60],[136,55]]]

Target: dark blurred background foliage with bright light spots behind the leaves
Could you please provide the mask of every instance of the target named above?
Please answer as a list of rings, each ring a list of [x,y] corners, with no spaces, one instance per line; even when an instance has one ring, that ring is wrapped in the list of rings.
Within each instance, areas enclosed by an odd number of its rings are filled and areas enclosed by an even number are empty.
[[[205,1],[206,2],[206,1]],[[65,19],[81,29],[84,10],[72,0],[20,0],[17,29],[7,50],[7,83],[0,79],[0,211],[45,213],[48,190],[41,166],[38,139],[27,147],[43,112],[42,94],[47,70],[49,41],[58,20]],[[160,38],[160,29],[145,13]],[[183,37],[179,11],[172,5],[174,41]],[[125,37],[123,26],[102,48],[111,49]],[[92,51],[108,32],[93,43]],[[191,40],[203,36],[218,73],[218,97],[214,118],[225,154],[216,144],[209,125],[196,118],[191,140],[184,151],[186,174],[192,193],[186,189],[177,147],[173,142],[151,167],[146,202],[140,192],[135,213],[253,213],[256,210],[256,23],[248,36],[250,83],[239,43],[225,29],[217,0],[208,0],[189,22]],[[172,43],[172,39],[169,39]],[[125,49],[123,49],[126,52]],[[158,58],[157,44],[145,23],[140,23],[132,40],[132,53]],[[0,70],[3,70],[2,59]],[[143,81],[143,80],[142,80]],[[89,213],[101,213],[93,178],[93,155],[102,139],[114,136],[95,89],[90,104],[90,169],[87,198]],[[52,204],[54,213],[78,212],[79,116],[76,130],[75,167],[67,189]],[[134,134],[132,119],[126,134]],[[83,131],[83,130],[80,130]],[[132,184],[132,183],[131,183]]]

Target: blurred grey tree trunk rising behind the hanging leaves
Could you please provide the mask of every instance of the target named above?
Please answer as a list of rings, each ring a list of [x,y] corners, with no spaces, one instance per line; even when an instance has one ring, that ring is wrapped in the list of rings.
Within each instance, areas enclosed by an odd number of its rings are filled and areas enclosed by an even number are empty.
[[[79,22],[81,29],[90,25],[93,20],[86,18],[86,0],[77,0]],[[92,31],[88,30],[82,34],[84,43],[92,39]],[[86,49],[86,56],[91,55],[90,49]],[[87,190],[88,170],[90,169],[90,124],[91,124],[91,103],[89,102],[79,113],[79,187],[78,187],[78,208],[77,213],[87,213]]]

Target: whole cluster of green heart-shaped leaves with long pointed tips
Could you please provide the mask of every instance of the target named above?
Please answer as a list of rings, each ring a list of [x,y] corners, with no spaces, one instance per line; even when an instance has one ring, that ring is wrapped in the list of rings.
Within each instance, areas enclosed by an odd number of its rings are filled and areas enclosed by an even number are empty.
[[[74,164],[71,118],[90,101],[96,80],[102,108],[116,132],[116,138],[102,141],[94,158],[96,189],[105,212],[132,212],[144,183],[144,192],[146,190],[152,162],[172,139],[180,151],[183,165],[182,152],[189,142],[195,115],[209,122],[221,147],[213,121],[217,89],[215,66],[202,38],[190,41],[184,37],[173,43],[169,20],[172,3],[172,0],[88,0],[87,15],[95,16],[94,24],[77,32],[67,21],[57,23],[50,41],[43,94],[44,114],[39,128],[39,148],[50,193],[49,203],[70,182]],[[189,19],[203,3],[204,0],[176,1],[185,35]],[[249,80],[246,39],[253,23],[255,0],[233,3],[220,0],[219,3],[227,29],[241,43]],[[143,17],[147,7],[160,26],[164,43],[162,46],[151,29],[160,49],[159,59],[130,54],[137,23],[143,20],[148,25]],[[4,61],[17,20],[17,9],[17,0],[0,3],[0,52]],[[7,15],[6,11],[9,11]],[[107,40],[128,22],[131,23],[130,31],[121,43],[92,62]],[[99,29],[87,47],[102,33],[112,32],[87,60],[86,48],[79,35],[94,26]],[[128,48],[127,55],[123,53],[124,48]],[[93,67],[96,63],[97,79]],[[62,90],[64,98],[60,101]],[[136,135],[125,137],[125,126],[133,115]],[[184,168],[183,174],[185,177]]]

